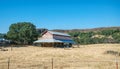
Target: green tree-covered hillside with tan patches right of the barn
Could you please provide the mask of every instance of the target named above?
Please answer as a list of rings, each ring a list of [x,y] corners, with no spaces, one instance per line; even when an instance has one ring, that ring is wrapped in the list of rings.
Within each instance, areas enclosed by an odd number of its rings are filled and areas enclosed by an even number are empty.
[[[77,44],[120,43],[120,29],[70,32]]]

